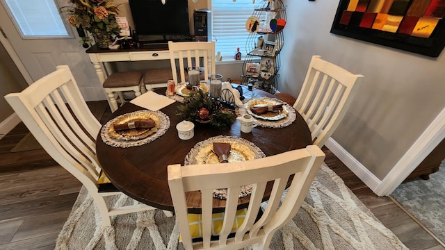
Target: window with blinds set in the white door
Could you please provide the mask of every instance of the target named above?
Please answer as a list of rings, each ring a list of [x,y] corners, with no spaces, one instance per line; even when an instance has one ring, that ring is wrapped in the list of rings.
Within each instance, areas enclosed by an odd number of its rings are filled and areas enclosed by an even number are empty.
[[[54,0],[3,0],[22,38],[67,38]]]

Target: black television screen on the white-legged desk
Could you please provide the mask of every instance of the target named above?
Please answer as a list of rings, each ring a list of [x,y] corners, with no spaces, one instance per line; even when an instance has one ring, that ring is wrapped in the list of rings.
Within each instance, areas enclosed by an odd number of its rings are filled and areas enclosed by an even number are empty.
[[[138,35],[190,35],[187,0],[129,0]]]

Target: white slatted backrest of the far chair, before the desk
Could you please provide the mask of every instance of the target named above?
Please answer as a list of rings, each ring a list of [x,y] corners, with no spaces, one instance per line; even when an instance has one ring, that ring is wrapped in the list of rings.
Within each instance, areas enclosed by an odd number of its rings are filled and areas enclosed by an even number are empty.
[[[215,42],[168,42],[173,81],[185,83],[185,67],[204,67],[204,81],[209,81],[210,74],[216,74]],[[178,60],[179,65],[177,65]],[[184,60],[187,65],[184,66]],[[178,72],[180,79],[178,81]]]

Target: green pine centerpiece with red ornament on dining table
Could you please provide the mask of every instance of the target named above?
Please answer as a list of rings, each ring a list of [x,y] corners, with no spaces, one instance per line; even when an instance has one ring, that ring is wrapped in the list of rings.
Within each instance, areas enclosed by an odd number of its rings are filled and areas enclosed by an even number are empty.
[[[192,91],[184,98],[184,103],[178,106],[176,115],[186,121],[209,124],[218,129],[226,129],[236,119],[232,110],[223,108],[222,103],[212,99],[202,90]]]

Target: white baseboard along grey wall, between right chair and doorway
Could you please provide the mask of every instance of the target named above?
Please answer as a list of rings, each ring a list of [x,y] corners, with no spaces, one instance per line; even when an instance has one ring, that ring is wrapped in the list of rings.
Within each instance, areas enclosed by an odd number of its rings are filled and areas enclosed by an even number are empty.
[[[379,187],[382,181],[371,173],[362,163],[355,159],[348,151],[343,149],[334,139],[329,138],[325,146],[334,153],[342,163],[346,165],[360,180],[362,180],[368,188],[375,190]]]

